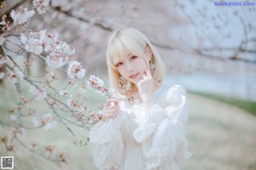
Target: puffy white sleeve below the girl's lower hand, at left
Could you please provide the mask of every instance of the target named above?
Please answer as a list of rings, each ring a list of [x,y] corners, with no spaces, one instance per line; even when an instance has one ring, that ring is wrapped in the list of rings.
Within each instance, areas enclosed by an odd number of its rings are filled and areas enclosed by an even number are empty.
[[[93,158],[96,167],[103,169],[119,169],[123,160],[124,143],[120,132],[120,117],[98,122],[90,129],[90,142],[95,142]]]

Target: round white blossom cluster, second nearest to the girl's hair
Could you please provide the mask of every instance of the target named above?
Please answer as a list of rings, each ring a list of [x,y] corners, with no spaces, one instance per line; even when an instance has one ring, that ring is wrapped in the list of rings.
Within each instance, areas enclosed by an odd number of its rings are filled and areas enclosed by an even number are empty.
[[[67,75],[70,78],[78,77],[82,79],[85,76],[85,70],[78,61],[73,61],[68,65]]]

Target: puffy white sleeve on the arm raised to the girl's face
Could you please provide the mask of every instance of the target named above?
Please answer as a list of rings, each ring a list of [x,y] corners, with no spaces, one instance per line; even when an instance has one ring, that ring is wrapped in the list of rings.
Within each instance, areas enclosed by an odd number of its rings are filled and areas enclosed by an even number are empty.
[[[140,123],[133,136],[137,142],[143,143],[148,169],[178,166],[189,158],[184,129],[188,120],[187,96],[181,86],[169,88],[164,105],[156,103],[144,114],[145,121]]]

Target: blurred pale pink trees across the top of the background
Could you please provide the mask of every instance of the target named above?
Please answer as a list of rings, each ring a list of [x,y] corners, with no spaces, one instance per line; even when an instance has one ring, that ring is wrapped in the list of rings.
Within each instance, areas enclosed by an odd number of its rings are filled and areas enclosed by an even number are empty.
[[[30,1],[9,1],[7,11],[27,2]],[[79,60],[91,71],[105,72],[104,54],[110,31],[129,26],[143,31],[160,48],[171,71],[226,71],[224,68],[230,65],[232,70],[233,61],[245,62],[249,67],[256,62],[253,3],[251,6],[216,6],[210,0],[51,0],[49,3],[49,12],[32,20],[30,26],[60,32],[61,38],[77,49]],[[209,66],[212,62],[220,66]]]

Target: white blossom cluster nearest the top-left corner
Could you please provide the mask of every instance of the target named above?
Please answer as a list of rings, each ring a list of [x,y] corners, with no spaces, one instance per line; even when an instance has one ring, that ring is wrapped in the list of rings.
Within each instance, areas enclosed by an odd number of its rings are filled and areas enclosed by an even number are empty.
[[[20,7],[18,10],[12,10],[10,15],[14,20],[14,25],[23,24],[35,14],[34,10],[28,11],[27,8]]]

